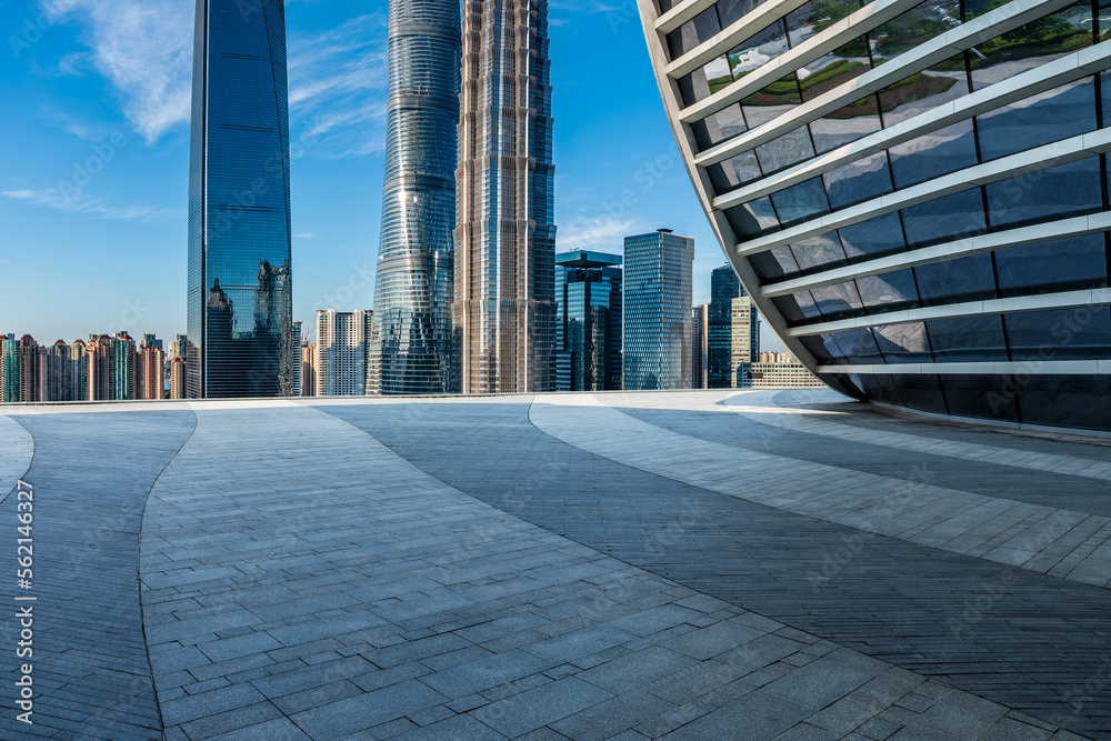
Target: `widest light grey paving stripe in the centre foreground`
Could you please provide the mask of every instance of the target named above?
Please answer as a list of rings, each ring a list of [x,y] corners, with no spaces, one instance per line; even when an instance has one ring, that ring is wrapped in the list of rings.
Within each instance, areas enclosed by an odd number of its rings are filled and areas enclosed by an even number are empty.
[[[387,427],[442,409],[401,407]],[[307,407],[198,405],[141,559],[173,740],[1057,731],[524,522]]]

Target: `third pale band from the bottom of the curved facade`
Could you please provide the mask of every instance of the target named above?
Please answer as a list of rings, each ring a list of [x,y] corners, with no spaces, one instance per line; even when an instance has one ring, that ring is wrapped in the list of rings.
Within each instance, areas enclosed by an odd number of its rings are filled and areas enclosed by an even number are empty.
[[[1111,44],[1108,44],[1108,50],[1111,52]],[[760,290],[760,293],[767,298],[787,296],[798,291],[842,283],[854,278],[881,276],[904,268],[935,264],[953,258],[997,252],[1012,247],[1024,247],[1027,244],[1038,244],[1058,239],[1082,237],[1109,229],[1111,229],[1111,213],[1105,212],[1049,221],[1020,229],[1008,229],[990,234],[981,234],[980,237],[959,239],[945,242],[944,244],[935,244],[934,247],[923,247],[910,252],[900,252],[899,254],[891,254],[878,260],[859,262],[843,268],[834,268],[833,270],[764,286]]]

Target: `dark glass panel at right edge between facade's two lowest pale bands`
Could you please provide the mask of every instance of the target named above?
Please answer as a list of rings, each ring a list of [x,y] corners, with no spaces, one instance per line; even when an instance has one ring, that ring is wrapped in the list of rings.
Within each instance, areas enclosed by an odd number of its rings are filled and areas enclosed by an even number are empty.
[[[1011,360],[1111,359],[1111,309],[1078,307],[1007,314]]]

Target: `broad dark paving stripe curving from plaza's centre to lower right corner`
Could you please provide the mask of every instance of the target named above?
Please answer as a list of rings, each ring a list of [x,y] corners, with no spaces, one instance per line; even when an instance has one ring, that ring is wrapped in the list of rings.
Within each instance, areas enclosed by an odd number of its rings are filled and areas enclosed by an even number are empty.
[[[1082,711],[1070,704],[1105,670],[1111,594],[1104,590],[861,537],[628,468],[539,431],[529,421],[528,399],[420,407],[417,413],[401,401],[322,408],[450,485],[703,594],[1044,721],[1109,731],[1111,702],[1102,694],[1085,697]],[[849,551],[844,559],[842,551]],[[811,573],[821,573],[827,560],[835,572],[814,583]],[[970,612],[970,602],[982,610]],[[834,712],[851,718],[853,710],[838,705]],[[972,725],[960,725],[967,713],[951,718],[957,727],[948,731],[903,738],[975,738]],[[867,729],[872,731],[882,734]],[[735,731],[702,738],[730,733]],[[1014,731],[1001,738],[1025,737]]]

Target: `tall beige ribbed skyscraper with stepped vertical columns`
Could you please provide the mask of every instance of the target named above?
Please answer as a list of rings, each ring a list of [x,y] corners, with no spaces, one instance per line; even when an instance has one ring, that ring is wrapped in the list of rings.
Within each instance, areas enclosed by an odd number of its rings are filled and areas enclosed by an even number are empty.
[[[554,385],[556,226],[547,0],[462,18],[453,332],[463,393]]]

